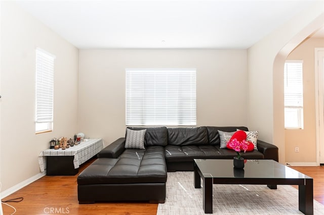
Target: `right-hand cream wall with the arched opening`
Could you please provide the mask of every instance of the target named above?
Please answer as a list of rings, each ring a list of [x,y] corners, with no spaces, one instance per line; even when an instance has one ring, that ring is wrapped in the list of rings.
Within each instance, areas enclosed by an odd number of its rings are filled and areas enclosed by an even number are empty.
[[[279,147],[279,162],[285,163],[284,63],[308,35],[323,26],[324,2],[310,7],[284,23],[248,49],[249,126],[260,138]]]

